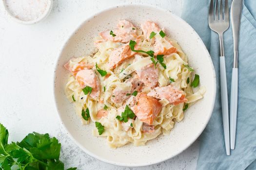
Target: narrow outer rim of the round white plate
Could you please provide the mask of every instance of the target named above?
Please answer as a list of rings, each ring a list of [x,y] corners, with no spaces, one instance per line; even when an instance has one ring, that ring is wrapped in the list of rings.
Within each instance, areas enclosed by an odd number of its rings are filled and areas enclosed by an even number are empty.
[[[213,88],[214,88],[214,98],[213,98],[213,102],[211,103],[211,108],[209,109],[209,111],[211,112],[211,114],[209,114],[208,118],[207,118],[207,121],[206,123],[203,125],[203,128],[201,129],[201,131],[195,135],[195,138],[183,149],[183,150],[180,150],[179,152],[177,152],[175,155],[172,155],[172,156],[167,156],[166,158],[163,158],[163,159],[159,159],[157,161],[154,161],[154,162],[150,162],[150,163],[137,163],[137,164],[129,164],[129,163],[119,163],[119,162],[114,162],[114,161],[110,161],[108,159],[104,159],[90,151],[88,151],[86,148],[84,148],[81,144],[79,144],[79,142],[72,136],[72,134],[70,133],[70,131],[67,129],[67,127],[64,125],[63,123],[63,120],[60,116],[60,113],[59,113],[59,107],[58,107],[58,104],[57,104],[57,98],[56,98],[56,93],[57,93],[57,90],[55,88],[55,84],[56,84],[56,77],[57,77],[57,68],[58,68],[58,65],[59,65],[59,59],[60,59],[60,56],[62,54],[62,52],[64,51],[64,49],[66,48],[67,44],[68,44],[68,41],[71,39],[72,36],[74,36],[76,34],[77,31],[79,31],[79,28],[86,24],[88,21],[90,21],[91,19],[93,19],[95,16],[98,16],[100,15],[101,13],[104,13],[104,12],[107,12],[107,11],[110,11],[110,10],[113,10],[113,9],[116,9],[118,7],[129,7],[129,6],[142,6],[142,7],[150,7],[150,8],[156,8],[160,11],[163,11],[163,12],[167,12],[167,13],[170,13],[173,17],[175,17],[177,20],[179,20],[180,22],[183,22],[184,24],[186,24],[188,27],[190,27],[190,29],[192,31],[195,32],[195,35],[197,36],[198,40],[199,40],[199,43],[202,44],[202,46],[205,48],[205,51],[206,51],[206,54],[211,63],[211,67],[213,69],[213,81],[214,81],[214,85],[213,85]],[[58,57],[55,61],[55,68],[54,68],[54,76],[53,76],[53,91],[54,91],[54,102],[55,102],[55,107],[57,109],[57,113],[58,113],[58,117],[59,117],[59,120],[62,124],[62,126],[64,127],[64,129],[66,130],[68,136],[72,139],[72,141],[77,145],[79,146],[79,148],[89,154],[90,156],[102,161],[102,162],[105,162],[105,163],[108,163],[108,164],[112,164],[112,165],[116,165],[116,166],[121,166],[121,167],[145,167],[145,166],[149,166],[149,165],[155,165],[155,164],[158,164],[158,163],[161,163],[163,161],[166,161],[168,159],[171,159],[175,156],[177,156],[178,154],[182,153],[183,151],[185,151],[186,149],[188,149],[196,140],[197,138],[202,134],[202,132],[204,131],[204,129],[206,128],[207,124],[209,123],[209,120],[212,116],[212,113],[213,113],[213,109],[214,109],[214,105],[215,105],[215,100],[216,100],[216,91],[217,91],[217,82],[216,82],[216,71],[215,71],[215,68],[214,68],[214,64],[213,64],[213,61],[211,59],[211,56],[210,56],[210,53],[209,51],[207,50],[205,44],[203,43],[201,37],[197,34],[197,32],[194,30],[194,28],[188,24],[185,20],[183,20],[181,17],[178,17],[176,14],[174,14],[171,10],[166,10],[166,9],[163,9],[161,7],[158,7],[158,6],[155,6],[155,5],[151,5],[151,4],[143,4],[143,3],[133,3],[133,2],[130,2],[130,3],[120,3],[118,5],[112,5],[111,7],[108,7],[108,8],[104,8],[102,10],[100,10],[99,12],[97,13],[94,13],[92,15],[90,15],[89,17],[86,17],[82,22],[80,22],[78,24],[78,26],[76,27],[76,29],[68,35],[68,37],[64,40],[64,43],[62,44],[62,46],[60,46],[61,48],[59,49],[59,53],[58,53]]]

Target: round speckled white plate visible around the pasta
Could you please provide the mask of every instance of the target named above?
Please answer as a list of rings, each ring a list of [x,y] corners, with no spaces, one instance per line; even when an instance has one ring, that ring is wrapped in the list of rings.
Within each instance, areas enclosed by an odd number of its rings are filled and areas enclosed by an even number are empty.
[[[105,138],[92,136],[94,123],[89,126],[81,125],[74,105],[64,94],[69,73],[63,65],[71,57],[91,54],[95,49],[94,37],[100,31],[115,28],[119,19],[128,19],[136,26],[145,20],[151,20],[164,27],[166,33],[176,39],[187,54],[189,65],[200,75],[200,85],[204,85],[207,91],[202,100],[185,112],[184,119],[175,124],[170,136],[160,135],[141,147],[128,144],[118,149],[111,149],[107,146]],[[216,75],[211,57],[202,40],[184,20],[163,9],[130,4],[113,7],[90,17],[70,36],[59,55],[54,89],[59,117],[71,138],[84,152],[110,164],[138,167],[156,164],[176,156],[197,139],[213,111]]]

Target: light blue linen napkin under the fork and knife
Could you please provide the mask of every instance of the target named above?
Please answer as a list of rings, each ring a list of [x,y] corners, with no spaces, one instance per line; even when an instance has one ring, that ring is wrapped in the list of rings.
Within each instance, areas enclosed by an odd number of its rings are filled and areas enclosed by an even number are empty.
[[[224,144],[218,35],[208,26],[210,0],[184,0],[182,18],[199,34],[210,51],[217,76],[217,94],[212,117],[199,137],[197,170],[256,170],[256,0],[245,0],[238,54],[238,111],[236,146],[227,156]],[[229,1],[231,5],[231,0]],[[230,102],[233,68],[233,34],[230,22],[224,33],[224,53]]]

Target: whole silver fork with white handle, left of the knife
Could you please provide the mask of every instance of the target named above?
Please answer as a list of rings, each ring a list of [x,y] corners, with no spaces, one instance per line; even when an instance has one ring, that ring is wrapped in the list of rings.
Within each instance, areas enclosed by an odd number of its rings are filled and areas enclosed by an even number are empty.
[[[219,5],[218,5],[219,1]],[[228,115],[228,91],[227,91],[227,78],[225,57],[223,48],[223,33],[229,28],[229,6],[228,0],[225,0],[224,15],[223,15],[223,3],[222,0],[211,0],[209,9],[209,27],[215,31],[219,36],[220,45],[220,92],[221,92],[221,107],[222,107],[222,119],[226,153],[230,155],[230,140],[229,140],[229,115]]]

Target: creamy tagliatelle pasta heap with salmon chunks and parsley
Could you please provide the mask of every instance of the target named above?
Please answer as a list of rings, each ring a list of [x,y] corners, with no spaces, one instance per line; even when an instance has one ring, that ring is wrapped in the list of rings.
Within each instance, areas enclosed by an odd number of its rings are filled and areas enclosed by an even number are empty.
[[[144,24],[149,26],[142,25],[141,31],[129,21],[119,21],[111,34],[101,32],[96,38],[94,56],[72,58],[65,65],[72,72],[65,86],[67,98],[83,124],[102,125],[92,135],[105,136],[112,148],[127,143],[141,146],[161,133],[169,135],[175,122],[184,118],[184,111],[206,91],[203,86],[197,91],[191,86],[193,68],[177,41],[159,34],[155,23]],[[115,67],[110,57],[116,57]],[[85,69],[91,75],[82,75]],[[81,114],[85,110],[88,120]]]

